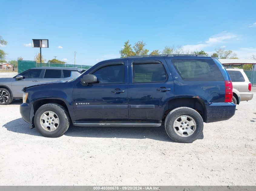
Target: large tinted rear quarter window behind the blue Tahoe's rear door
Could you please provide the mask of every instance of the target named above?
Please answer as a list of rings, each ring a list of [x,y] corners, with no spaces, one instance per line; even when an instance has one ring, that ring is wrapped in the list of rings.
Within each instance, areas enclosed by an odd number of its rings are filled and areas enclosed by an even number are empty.
[[[223,81],[224,78],[213,60],[172,59],[173,66],[184,81]]]

